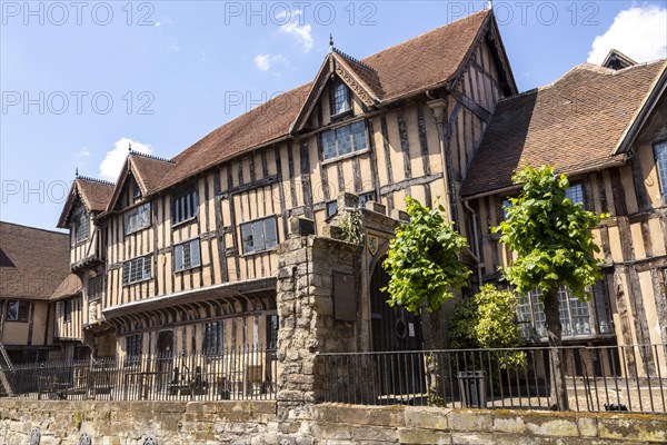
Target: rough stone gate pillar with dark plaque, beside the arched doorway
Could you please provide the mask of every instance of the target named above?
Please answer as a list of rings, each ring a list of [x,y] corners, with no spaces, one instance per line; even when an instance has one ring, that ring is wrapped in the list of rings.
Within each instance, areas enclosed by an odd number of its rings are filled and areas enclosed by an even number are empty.
[[[290,219],[290,237],[278,247],[278,421],[285,444],[311,437],[310,407],[323,396],[327,379],[317,353],[356,352],[360,345],[361,246],[306,235],[307,221]],[[346,285],[344,295],[335,293],[335,279]],[[335,312],[337,304],[347,306]]]

